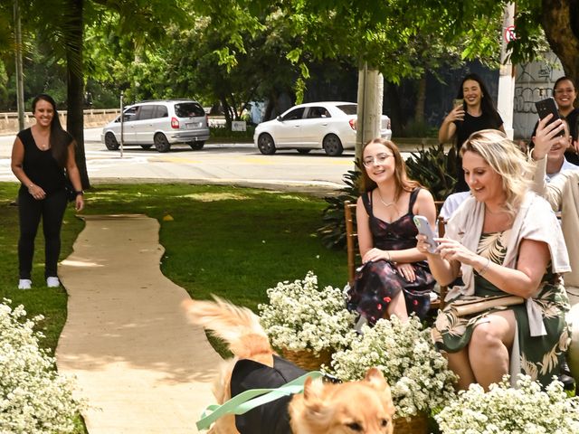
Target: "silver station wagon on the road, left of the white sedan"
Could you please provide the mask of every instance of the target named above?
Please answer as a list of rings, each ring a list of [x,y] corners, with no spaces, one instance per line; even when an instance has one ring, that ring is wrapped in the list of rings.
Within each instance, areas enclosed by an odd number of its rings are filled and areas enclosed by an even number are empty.
[[[205,110],[191,99],[143,101],[128,106],[122,116],[123,146],[167,152],[173,144],[186,143],[198,150],[209,138]],[[102,128],[100,140],[111,151],[119,149],[120,116]]]

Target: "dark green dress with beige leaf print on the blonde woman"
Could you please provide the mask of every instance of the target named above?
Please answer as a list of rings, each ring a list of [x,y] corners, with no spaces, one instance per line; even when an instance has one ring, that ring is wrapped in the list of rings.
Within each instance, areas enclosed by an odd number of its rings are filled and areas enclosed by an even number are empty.
[[[510,230],[481,234],[477,253],[494,263],[502,264],[507,253],[509,235]],[[506,294],[487,279],[479,276],[476,270],[474,282],[475,297]],[[524,304],[495,307],[472,316],[456,316],[452,311],[452,300],[450,300],[436,318],[432,329],[434,344],[441,351],[456,353],[469,344],[474,327],[484,322],[485,316],[498,310],[510,309],[517,320],[521,371],[534,380],[547,385],[552,381],[554,375],[558,376],[560,373],[559,365],[563,360],[570,338],[565,325],[565,312],[569,309],[565,288],[560,275],[552,272],[551,264],[547,265],[535,301],[541,309],[546,335],[531,336],[527,308]]]

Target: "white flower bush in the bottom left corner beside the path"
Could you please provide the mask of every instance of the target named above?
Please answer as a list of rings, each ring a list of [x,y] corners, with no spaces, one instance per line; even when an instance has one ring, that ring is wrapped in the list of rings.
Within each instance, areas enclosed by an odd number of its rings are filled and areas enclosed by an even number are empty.
[[[33,325],[42,316],[25,315],[22,306],[0,304],[0,432],[72,432],[83,404],[72,397],[71,380],[54,370],[54,359],[38,346],[43,335]]]

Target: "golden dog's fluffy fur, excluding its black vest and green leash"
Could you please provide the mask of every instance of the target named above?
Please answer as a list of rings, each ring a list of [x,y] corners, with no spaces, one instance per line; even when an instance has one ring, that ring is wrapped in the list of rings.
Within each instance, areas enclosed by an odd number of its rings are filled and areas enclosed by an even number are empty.
[[[248,362],[263,366],[264,369],[274,367],[275,361],[290,364],[279,359],[271,348],[270,341],[261,327],[259,317],[246,307],[234,306],[223,299],[214,297],[215,301],[185,301],[184,307],[191,322],[203,325],[212,330],[229,345],[234,354],[233,359],[225,361],[222,373],[214,383],[214,395],[222,404],[232,397],[232,373],[236,363]],[[249,359],[245,361],[244,359]],[[260,364],[261,363],[261,364]],[[281,364],[280,363],[280,364]],[[295,365],[292,365],[295,366]],[[299,368],[295,368],[299,369]],[[258,374],[246,377],[261,379]],[[290,379],[291,380],[291,379]],[[246,384],[247,385],[247,384]],[[250,384],[248,389],[261,388],[261,384]],[[234,393],[235,395],[237,393]],[[294,434],[392,434],[394,404],[390,388],[383,374],[372,368],[365,374],[365,379],[358,382],[341,384],[322,382],[320,379],[308,378],[304,384],[304,392],[289,397],[289,404],[281,411],[284,415],[274,415],[271,420],[284,419],[289,416],[289,426],[272,428],[248,429],[240,428],[240,418],[223,416],[210,429],[210,434],[256,434],[258,432],[274,434],[293,432]],[[268,404],[269,405],[269,404]],[[250,414],[258,409],[248,411]],[[280,406],[278,406],[280,410]],[[258,414],[263,422],[261,413]],[[261,423],[263,425],[263,423]],[[287,425],[287,422],[286,422]]]

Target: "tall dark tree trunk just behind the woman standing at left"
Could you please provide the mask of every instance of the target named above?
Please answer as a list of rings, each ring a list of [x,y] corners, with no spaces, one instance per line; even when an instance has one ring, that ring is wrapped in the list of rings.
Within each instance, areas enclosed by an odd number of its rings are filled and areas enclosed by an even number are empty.
[[[76,140],[76,164],[81,173],[82,188],[90,188],[84,152],[84,83],[82,73],[83,0],[68,0],[68,33],[66,43],[67,119],[66,129]]]

